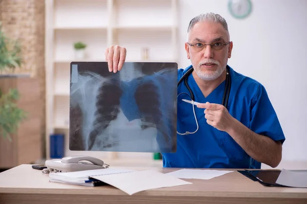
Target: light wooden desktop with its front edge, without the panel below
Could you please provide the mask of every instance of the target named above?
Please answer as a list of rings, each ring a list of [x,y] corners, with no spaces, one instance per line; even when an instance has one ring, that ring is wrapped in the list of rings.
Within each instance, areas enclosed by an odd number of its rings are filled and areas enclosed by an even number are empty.
[[[135,170],[155,169],[163,173],[178,170],[173,168],[121,168]],[[217,197],[224,197],[227,199],[258,198],[258,201],[259,199],[264,198],[266,200],[269,198],[283,200],[300,198],[304,201],[307,200],[307,188],[266,187],[259,184],[258,182],[254,182],[248,179],[246,176],[237,172],[236,169],[227,170],[233,170],[233,172],[215,177],[210,180],[184,179],[185,181],[191,182],[192,184],[152,189],[142,191],[131,196],[166,196],[176,197],[176,199],[181,199],[180,197],[210,197],[212,199]],[[40,170],[32,169],[31,165],[20,165],[0,173],[0,201],[3,198],[3,195],[13,196],[14,194],[57,194],[83,196],[108,195],[117,197],[119,195],[127,196],[125,192],[112,186],[85,187],[49,182],[48,174],[43,174]]]

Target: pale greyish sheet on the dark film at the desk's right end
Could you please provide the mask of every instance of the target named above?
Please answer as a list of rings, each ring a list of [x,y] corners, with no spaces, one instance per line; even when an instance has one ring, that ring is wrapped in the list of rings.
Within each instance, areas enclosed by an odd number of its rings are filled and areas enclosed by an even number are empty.
[[[282,169],[275,183],[288,187],[307,188],[307,173]]]

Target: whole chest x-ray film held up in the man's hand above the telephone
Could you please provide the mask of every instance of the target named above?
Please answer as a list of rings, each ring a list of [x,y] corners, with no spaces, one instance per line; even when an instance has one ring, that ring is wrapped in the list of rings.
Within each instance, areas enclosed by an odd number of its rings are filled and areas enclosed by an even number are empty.
[[[177,63],[72,62],[70,150],[174,152]]]

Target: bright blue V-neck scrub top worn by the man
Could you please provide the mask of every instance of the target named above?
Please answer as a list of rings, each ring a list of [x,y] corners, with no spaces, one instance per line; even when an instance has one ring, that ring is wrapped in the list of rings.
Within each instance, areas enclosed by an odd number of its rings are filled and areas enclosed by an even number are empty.
[[[188,70],[178,70],[178,81]],[[265,135],[275,141],[284,142],[285,137],[277,115],[264,86],[229,67],[231,90],[228,101],[229,113],[246,125],[251,131]],[[194,93],[195,101],[200,103],[222,104],[225,81],[207,97],[203,95],[194,81],[188,76],[188,85]],[[184,81],[178,87],[178,94],[188,93]],[[182,99],[191,99],[187,94],[178,96],[177,131],[194,132],[196,122],[192,105]],[[163,167],[176,168],[261,168],[261,163],[252,159],[242,147],[226,132],[207,124],[204,109],[195,108],[199,123],[198,132],[190,135],[177,134],[177,151],[162,153]]]

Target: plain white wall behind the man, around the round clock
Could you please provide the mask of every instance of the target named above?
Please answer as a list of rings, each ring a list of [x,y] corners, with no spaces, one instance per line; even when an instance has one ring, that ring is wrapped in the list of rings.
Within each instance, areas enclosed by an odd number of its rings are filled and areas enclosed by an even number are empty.
[[[228,0],[179,0],[179,65],[190,65],[184,49],[189,21],[200,13],[222,15],[233,41],[228,64],[262,83],[277,112],[286,135],[282,161],[307,161],[307,1],[251,1],[252,14],[239,20],[228,12]]]

